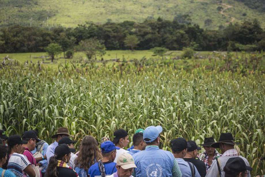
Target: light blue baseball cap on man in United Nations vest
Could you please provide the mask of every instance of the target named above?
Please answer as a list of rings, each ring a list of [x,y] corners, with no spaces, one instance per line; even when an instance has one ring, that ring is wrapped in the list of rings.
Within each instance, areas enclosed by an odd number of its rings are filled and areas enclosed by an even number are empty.
[[[157,139],[157,137],[159,136],[159,134],[162,131],[163,131],[163,128],[160,125],[158,125],[158,126],[149,126],[149,127],[145,128],[145,130],[143,131],[143,140],[146,143],[151,143],[152,141]]]

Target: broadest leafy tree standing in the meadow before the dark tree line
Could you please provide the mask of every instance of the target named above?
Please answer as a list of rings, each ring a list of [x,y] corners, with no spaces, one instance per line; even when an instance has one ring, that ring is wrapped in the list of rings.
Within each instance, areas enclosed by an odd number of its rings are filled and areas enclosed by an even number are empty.
[[[88,59],[91,59],[93,56],[105,55],[106,47],[104,44],[101,44],[100,41],[96,38],[90,38],[79,43],[79,50],[83,51]]]

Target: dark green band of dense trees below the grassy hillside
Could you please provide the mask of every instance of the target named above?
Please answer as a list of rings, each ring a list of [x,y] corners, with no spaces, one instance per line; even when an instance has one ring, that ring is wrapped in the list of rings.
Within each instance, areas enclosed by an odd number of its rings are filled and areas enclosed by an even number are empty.
[[[0,53],[43,52],[51,43],[60,45],[63,52],[76,51],[82,50],[76,46],[88,39],[96,39],[107,50],[149,50],[154,47],[169,50],[190,47],[197,51],[265,50],[265,30],[256,19],[231,23],[219,30],[205,30],[189,22],[179,23],[178,19],[158,18],[143,23],[87,22],[75,28],[3,27],[0,29]]]

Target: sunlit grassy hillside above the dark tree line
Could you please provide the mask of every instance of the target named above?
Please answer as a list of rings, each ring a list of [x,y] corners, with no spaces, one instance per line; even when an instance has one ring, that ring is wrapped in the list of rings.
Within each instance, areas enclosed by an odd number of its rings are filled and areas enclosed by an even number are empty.
[[[208,29],[253,18],[265,26],[264,12],[238,0],[0,0],[0,4],[0,26],[15,23],[75,27],[86,21],[144,21],[159,16],[173,20],[183,14]]]

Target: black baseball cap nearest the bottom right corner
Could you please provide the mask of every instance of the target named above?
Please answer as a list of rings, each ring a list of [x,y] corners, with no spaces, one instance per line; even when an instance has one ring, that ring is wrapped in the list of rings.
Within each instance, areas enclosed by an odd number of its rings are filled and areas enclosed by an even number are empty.
[[[252,171],[252,168],[245,164],[245,161],[240,157],[232,157],[228,159],[224,167],[224,172],[227,174],[234,174],[235,176],[245,170]]]

